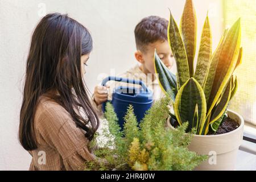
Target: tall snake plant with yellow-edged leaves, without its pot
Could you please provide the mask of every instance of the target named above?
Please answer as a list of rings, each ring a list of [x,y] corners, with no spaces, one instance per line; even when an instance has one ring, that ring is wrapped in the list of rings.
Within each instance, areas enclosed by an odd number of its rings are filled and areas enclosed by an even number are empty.
[[[207,13],[194,71],[196,30],[195,8],[192,0],[187,0],[180,27],[171,11],[168,24],[168,43],[174,54],[177,74],[168,70],[156,52],[154,63],[160,87],[171,95],[171,116],[179,125],[188,121],[188,130],[195,128],[196,134],[206,135],[209,129],[218,129],[228,103],[237,90],[234,70],[242,60],[241,24],[238,19],[229,30],[225,30],[212,53],[212,34]]]

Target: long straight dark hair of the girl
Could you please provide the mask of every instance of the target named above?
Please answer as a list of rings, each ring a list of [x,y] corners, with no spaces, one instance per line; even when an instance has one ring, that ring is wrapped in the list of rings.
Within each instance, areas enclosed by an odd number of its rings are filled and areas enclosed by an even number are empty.
[[[93,139],[98,117],[90,104],[81,73],[81,56],[92,51],[88,30],[67,14],[48,14],[40,20],[31,39],[26,65],[23,102],[20,110],[19,141],[26,150],[37,148],[34,115],[39,97],[49,97],[64,107],[85,137]],[[50,92],[49,92],[50,93]],[[82,118],[74,110],[84,111]]]

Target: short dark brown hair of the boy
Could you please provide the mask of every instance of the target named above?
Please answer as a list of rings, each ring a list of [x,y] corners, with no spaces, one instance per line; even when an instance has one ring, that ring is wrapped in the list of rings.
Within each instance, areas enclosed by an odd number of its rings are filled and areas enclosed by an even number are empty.
[[[158,40],[167,40],[168,20],[159,16],[148,16],[137,24],[134,30],[136,47],[146,51],[146,46]]]

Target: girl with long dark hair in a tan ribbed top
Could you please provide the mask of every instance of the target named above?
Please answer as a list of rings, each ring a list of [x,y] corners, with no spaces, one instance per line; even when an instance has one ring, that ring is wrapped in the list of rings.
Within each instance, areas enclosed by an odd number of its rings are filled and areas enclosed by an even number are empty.
[[[92,51],[88,30],[68,15],[48,14],[35,28],[27,58],[19,141],[30,170],[77,170],[99,120],[83,75]]]

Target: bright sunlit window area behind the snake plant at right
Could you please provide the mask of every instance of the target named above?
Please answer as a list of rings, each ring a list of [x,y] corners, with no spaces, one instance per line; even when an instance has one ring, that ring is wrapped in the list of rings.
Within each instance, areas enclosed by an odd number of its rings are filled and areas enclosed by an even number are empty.
[[[229,109],[241,114],[246,122],[256,125],[256,1],[225,0],[224,27],[241,17],[242,64],[236,70],[238,90]]]

